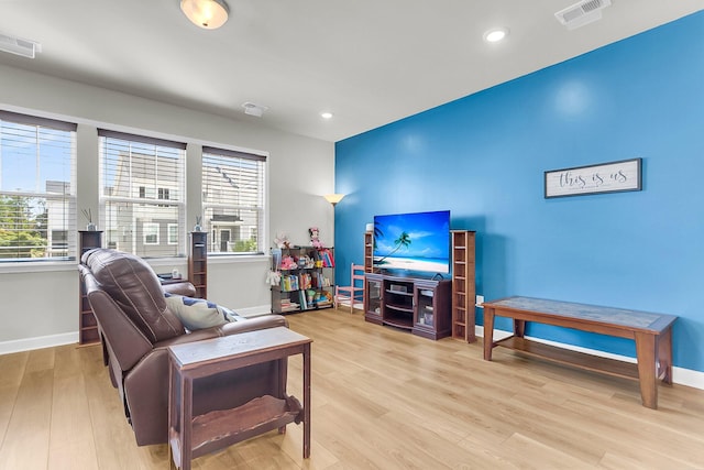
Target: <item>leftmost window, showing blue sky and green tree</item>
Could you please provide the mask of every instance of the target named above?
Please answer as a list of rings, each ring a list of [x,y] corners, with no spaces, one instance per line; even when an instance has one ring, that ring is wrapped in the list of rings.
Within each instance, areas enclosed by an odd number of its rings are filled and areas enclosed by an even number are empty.
[[[0,111],[0,261],[76,250],[76,124]]]

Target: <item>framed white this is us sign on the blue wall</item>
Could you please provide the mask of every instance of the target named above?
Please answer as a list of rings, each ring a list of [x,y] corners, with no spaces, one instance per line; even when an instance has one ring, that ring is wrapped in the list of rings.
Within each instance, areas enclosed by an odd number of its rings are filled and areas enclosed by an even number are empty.
[[[546,199],[584,194],[640,190],[642,184],[641,160],[623,160],[546,172]]]

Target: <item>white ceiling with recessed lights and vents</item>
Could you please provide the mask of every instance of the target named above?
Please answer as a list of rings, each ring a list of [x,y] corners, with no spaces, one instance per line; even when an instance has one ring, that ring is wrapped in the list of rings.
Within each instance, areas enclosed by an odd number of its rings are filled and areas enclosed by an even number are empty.
[[[0,33],[42,44],[0,64],[338,141],[704,9],[612,0],[568,31],[554,13],[576,0],[227,1],[207,31],[179,0],[0,0]],[[510,34],[483,42],[495,26]]]

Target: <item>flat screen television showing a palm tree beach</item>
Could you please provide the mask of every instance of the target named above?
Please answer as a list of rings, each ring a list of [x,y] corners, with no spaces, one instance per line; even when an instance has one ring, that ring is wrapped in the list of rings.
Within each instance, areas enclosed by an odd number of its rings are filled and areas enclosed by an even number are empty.
[[[450,272],[450,211],[374,216],[374,267]]]

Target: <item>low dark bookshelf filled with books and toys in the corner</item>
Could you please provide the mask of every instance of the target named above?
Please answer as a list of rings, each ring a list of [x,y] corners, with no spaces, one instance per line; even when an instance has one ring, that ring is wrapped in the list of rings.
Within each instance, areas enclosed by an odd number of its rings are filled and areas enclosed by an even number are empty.
[[[272,313],[292,314],[333,306],[332,248],[290,247],[272,250]]]

